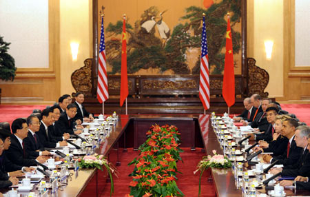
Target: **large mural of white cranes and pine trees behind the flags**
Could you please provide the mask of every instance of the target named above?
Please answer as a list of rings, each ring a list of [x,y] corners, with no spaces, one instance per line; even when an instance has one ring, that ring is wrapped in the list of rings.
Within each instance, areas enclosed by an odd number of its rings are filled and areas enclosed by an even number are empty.
[[[241,74],[240,0],[99,0],[100,10],[102,6],[109,74],[121,72],[124,13],[127,14],[128,74],[199,74],[203,13],[210,73],[223,74],[227,12],[231,17],[235,74]]]

